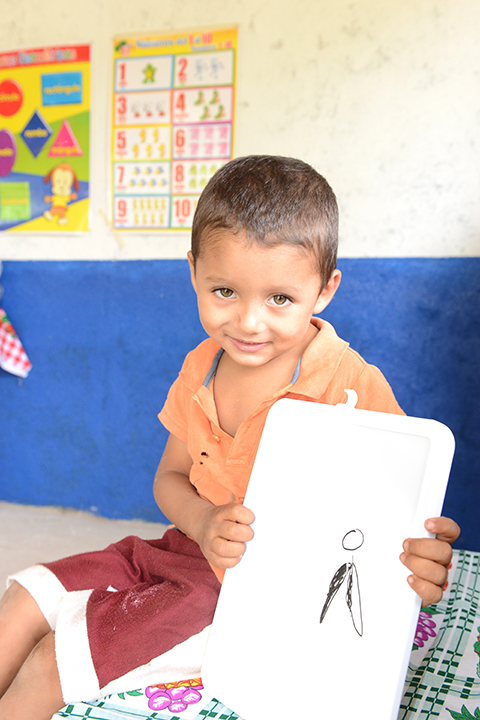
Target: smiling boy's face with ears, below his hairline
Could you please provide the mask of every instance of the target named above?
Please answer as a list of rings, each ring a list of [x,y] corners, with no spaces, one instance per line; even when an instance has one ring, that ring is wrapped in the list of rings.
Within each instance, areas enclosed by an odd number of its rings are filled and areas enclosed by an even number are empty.
[[[310,319],[332,299],[336,270],[325,289],[314,259],[293,245],[247,243],[224,230],[202,242],[195,268],[189,253],[200,321],[239,365],[295,360],[315,330]]]

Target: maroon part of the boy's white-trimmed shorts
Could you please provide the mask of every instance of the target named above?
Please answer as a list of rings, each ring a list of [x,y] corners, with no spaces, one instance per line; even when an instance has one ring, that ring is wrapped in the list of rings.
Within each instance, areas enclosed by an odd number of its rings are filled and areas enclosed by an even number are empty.
[[[98,687],[105,688],[207,628],[221,587],[199,546],[176,529],[167,530],[160,540],[127,537],[105,550],[74,555],[43,567],[66,591],[55,628],[57,641],[62,618],[67,625],[61,631],[65,637],[78,635],[73,626],[79,617],[82,620],[78,624],[83,623],[88,635],[88,645],[83,640],[64,640],[63,649],[57,649],[60,679],[62,672],[65,677],[69,675],[68,682],[65,680],[69,688],[75,665],[67,658],[63,664],[70,669],[62,670],[62,657],[70,645],[72,653],[82,643],[89,648]],[[32,592],[29,585],[25,586]],[[35,597],[35,592],[32,594]],[[73,610],[66,613],[69,603]],[[82,654],[84,649],[78,650],[77,657]]]

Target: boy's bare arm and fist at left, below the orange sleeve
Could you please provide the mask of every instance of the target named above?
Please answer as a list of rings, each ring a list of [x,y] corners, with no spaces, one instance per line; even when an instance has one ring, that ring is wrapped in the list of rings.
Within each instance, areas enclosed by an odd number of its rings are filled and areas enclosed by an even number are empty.
[[[199,544],[212,565],[233,567],[253,537],[254,515],[239,503],[217,506],[201,498],[189,479],[191,467],[186,444],[170,435],[155,475],[155,500],[164,515]]]

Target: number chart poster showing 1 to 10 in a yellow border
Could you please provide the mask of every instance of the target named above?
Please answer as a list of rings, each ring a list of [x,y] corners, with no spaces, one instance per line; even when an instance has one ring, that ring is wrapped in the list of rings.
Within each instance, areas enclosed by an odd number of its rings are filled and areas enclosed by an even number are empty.
[[[237,30],[115,41],[115,229],[191,228],[200,193],[233,157]]]

